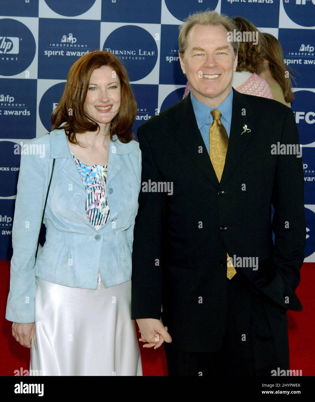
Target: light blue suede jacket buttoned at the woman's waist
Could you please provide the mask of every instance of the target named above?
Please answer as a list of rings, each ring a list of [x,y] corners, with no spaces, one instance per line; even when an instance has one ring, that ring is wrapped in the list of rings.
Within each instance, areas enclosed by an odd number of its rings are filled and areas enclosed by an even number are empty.
[[[116,140],[116,141],[115,141]],[[97,288],[131,279],[133,227],[141,182],[141,151],[136,141],[113,136],[106,180],[110,219],[99,230],[85,211],[86,190],[64,130],[24,144],[44,146],[44,157],[22,154],[12,226],[13,256],[6,319],[34,322],[35,276],[60,285]],[[40,222],[55,160],[44,215],[46,242],[38,251]]]

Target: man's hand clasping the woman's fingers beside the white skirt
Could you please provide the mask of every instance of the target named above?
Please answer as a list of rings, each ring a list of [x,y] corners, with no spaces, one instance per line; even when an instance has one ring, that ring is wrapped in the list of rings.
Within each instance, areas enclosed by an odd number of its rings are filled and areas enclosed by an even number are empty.
[[[139,341],[146,342],[143,345],[144,348],[154,347],[154,349],[157,349],[164,341],[167,343],[172,342],[168,327],[163,325],[162,318],[160,320],[156,318],[138,318],[136,321],[141,334]]]

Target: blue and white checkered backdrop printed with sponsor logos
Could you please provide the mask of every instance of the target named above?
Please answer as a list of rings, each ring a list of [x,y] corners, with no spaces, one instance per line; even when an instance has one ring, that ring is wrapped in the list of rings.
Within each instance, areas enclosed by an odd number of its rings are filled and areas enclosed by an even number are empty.
[[[14,145],[49,131],[71,65],[96,49],[121,59],[138,104],[136,133],[157,109],[182,99],[178,25],[207,8],[243,16],[275,35],[296,70],[291,107],[303,145],[305,262],[315,261],[315,0],[1,0],[0,259],[12,256],[20,166]]]

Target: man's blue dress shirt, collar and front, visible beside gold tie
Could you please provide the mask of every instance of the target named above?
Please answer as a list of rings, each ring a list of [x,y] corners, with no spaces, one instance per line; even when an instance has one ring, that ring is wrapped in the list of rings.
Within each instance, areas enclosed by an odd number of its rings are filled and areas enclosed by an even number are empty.
[[[220,105],[217,107],[209,107],[204,103],[200,102],[192,91],[190,91],[190,99],[192,101],[192,107],[194,109],[194,113],[196,116],[196,121],[198,124],[198,129],[202,135],[204,140],[204,144],[208,150],[208,154],[210,152],[209,145],[209,131],[210,125],[213,121],[212,114],[210,113],[213,109],[219,109],[221,113],[221,123],[224,125],[226,132],[228,133],[228,137],[230,137],[230,128],[231,128],[231,119],[232,119],[232,103],[233,103],[233,90],[231,88],[230,93]]]

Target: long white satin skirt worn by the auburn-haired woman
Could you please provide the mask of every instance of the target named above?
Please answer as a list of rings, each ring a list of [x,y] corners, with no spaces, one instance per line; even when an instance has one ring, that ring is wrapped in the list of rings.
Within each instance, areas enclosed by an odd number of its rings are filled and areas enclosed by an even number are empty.
[[[130,317],[131,279],[83,289],[36,277],[30,375],[142,375]]]

